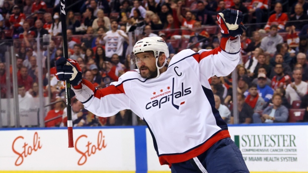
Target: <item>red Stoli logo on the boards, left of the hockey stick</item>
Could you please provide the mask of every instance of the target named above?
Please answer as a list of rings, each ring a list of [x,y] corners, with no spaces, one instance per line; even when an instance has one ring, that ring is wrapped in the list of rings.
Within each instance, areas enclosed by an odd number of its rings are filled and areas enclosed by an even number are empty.
[[[23,158],[30,156],[34,151],[37,151],[42,148],[42,145],[40,144],[40,137],[38,137],[37,132],[35,132],[33,136],[33,145],[30,146],[28,145],[28,143],[24,142],[21,152],[18,152],[17,149],[15,148],[15,142],[19,139],[24,139],[24,137],[23,136],[16,137],[12,144],[12,150],[18,156],[18,158],[15,161],[16,166],[19,166],[23,163]]]

